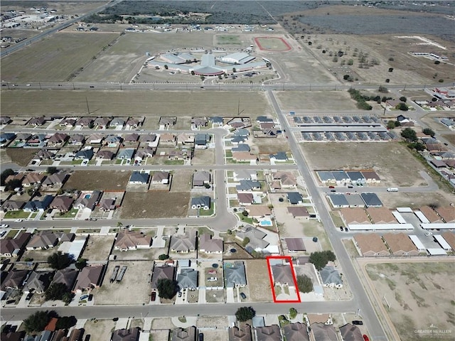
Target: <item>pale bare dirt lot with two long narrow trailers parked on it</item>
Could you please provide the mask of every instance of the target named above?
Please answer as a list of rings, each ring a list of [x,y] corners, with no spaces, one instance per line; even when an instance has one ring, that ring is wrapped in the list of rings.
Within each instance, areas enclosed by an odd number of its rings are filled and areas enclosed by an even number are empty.
[[[110,282],[115,266],[128,266],[120,283]],[[107,266],[105,279],[101,288],[93,291],[96,305],[120,304],[140,305],[150,301],[150,276],[153,261],[111,261]],[[125,293],[129,293],[125,295]]]

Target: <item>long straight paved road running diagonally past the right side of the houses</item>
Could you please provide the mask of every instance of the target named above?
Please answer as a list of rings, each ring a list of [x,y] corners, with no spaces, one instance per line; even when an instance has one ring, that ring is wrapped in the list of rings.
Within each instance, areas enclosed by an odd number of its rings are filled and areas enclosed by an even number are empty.
[[[277,117],[279,118],[280,124],[283,129],[289,129],[289,122],[287,121],[285,114],[279,108],[277,99],[274,97],[272,91],[267,91],[267,95],[272,102],[272,106],[277,112]],[[291,152],[294,155],[297,165],[299,166],[299,171],[303,176],[306,188],[313,198],[314,205],[316,206],[319,217],[323,224],[323,227],[326,229],[328,239],[330,240],[333,250],[337,256],[338,262],[341,264],[343,269],[343,277],[347,279],[347,282],[350,286],[350,291],[353,293],[354,298],[350,310],[360,309],[360,315],[362,315],[363,320],[368,325],[368,330],[370,331],[371,340],[386,341],[387,335],[380,325],[378,316],[373,309],[373,306],[370,303],[370,299],[363,288],[362,283],[358,278],[358,274],[355,272],[353,264],[351,263],[350,256],[348,255],[346,249],[341,242],[341,238],[336,229],[333,221],[331,220],[330,213],[328,212],[323,198],[323,192],[316,187],[316,181],[313,178],[313,172],[309,169],[304,156],[301,153],[298,143],[294,138],[294,135],[291,135],[289,138],[289,146],[291,147]]]

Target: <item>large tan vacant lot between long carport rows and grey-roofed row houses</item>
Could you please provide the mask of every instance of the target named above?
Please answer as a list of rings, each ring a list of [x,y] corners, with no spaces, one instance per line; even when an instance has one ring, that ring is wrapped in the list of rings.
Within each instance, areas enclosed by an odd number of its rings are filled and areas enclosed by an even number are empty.
[[[418,173],[424,166],[398,143],[301,144],[301,148],[313,170],[373,168],[383,186],[426,185]]]

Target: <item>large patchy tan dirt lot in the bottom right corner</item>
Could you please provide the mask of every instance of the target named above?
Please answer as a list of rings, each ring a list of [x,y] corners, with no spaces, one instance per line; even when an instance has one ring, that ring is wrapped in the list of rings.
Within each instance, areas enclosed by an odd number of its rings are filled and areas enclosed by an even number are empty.
[[[401,340],[453,340],[453,261],[365,263],[377,303]]]

